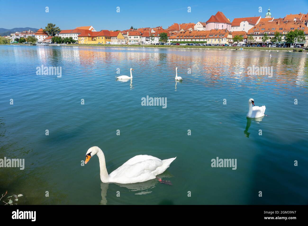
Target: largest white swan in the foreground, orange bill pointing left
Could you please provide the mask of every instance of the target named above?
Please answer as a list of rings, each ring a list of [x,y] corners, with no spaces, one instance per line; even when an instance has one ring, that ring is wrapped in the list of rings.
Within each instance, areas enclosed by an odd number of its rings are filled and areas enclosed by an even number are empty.
[[[163,173],[175,158],[160,160],[150,155],[136,155],[118,169],[108,175],[105,156],[99,147],[91,147],[87,151],[85,164],[91,157],[97,155],[99,158],[100,180],[103,183],[131,184],[139,183],[156,178]]]

